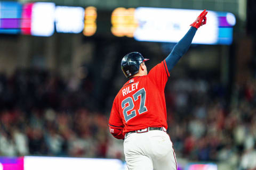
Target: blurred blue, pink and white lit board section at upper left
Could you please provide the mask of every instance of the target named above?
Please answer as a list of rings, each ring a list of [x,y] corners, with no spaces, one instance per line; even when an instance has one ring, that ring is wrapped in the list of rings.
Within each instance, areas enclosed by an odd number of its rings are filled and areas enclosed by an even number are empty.
[[[0,33],[49,37],[57,32],[79,33],[84,29],[84,8],[55,3],[0,2]],[[54,24],[55,23],[55,24]]]

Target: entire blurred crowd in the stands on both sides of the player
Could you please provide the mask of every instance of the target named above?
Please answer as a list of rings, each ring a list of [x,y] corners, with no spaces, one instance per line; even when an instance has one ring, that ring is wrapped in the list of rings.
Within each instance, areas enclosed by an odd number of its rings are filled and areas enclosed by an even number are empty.
[[[0,74],[0,155],[123,159],[122,140],[108,132],[109,113],[92,109],[92,88],[90,78],[63,80],[42,70]],[[228,95],[216,80],[173,77],[165,91],[178,157],[256,167],[254,79]]]

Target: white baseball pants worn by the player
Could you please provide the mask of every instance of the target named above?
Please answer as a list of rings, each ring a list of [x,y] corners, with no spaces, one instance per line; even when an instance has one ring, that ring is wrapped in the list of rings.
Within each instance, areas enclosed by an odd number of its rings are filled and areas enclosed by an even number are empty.
[[[124,155],[129,170],[177,170],[172,142],[164,131],[127,135]]]

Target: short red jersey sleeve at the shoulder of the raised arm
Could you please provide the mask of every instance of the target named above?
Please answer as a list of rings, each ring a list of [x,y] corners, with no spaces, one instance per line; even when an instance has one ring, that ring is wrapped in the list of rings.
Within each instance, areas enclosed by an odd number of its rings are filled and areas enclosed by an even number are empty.
[[[148,73],[149,79],[156,84],[158,89],[164,90],[165,84],[170,77],[170,73],[167,69],[166,61],[162,61],[153,67]]]

